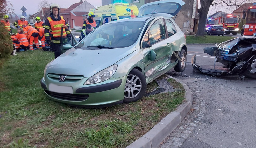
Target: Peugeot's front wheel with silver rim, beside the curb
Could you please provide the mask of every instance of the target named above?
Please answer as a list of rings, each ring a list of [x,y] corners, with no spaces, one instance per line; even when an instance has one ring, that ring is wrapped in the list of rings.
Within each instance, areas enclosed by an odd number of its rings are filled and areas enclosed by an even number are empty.
[[[145,76],[138,69],[132,69],[125,82],[124,103],[135,102],[141,99],[146,92],[146,87]]]

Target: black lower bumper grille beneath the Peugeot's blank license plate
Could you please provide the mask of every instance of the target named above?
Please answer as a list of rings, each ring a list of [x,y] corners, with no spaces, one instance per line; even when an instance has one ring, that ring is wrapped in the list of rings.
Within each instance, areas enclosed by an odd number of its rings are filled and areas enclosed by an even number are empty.
[[[48,95],[54,98],[70,100],[70,101],[83,101],[89,98],[88,94],[69,94],[69,93],[57,93],[48,90],[44,90]]]

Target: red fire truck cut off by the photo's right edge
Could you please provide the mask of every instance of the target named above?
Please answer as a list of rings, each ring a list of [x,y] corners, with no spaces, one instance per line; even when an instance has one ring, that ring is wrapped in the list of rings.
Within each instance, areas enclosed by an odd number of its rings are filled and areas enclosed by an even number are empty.
[[[243,19],[246,17],[246,10],[243,11]],[[256,32],[256,3],[253,3],[247,10],[246,23],[244,25],[244,35],[251,36]]]

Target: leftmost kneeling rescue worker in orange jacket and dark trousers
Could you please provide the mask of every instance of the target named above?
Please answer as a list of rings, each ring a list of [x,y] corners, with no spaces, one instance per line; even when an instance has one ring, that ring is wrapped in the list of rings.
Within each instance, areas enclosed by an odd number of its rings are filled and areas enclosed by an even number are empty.
[[[18,47],[16,49],[17,52],[26,51],[28,49],[28,39],[27,39],[26,35],[23,34],[23,29],[22,28],[18,28],[17,31],[18,31],[18,33],[13,38],[12,42],[14,43],[15,46]]]

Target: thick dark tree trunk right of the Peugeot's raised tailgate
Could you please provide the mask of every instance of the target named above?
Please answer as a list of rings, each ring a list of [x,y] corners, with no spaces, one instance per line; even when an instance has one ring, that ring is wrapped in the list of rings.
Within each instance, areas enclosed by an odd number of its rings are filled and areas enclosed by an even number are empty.
[[[201,0],[201,8],[198,9],[199,21],[198,21],[198,30],[197,30],[196,36],[204,35],[205,22],[206,22],[207,14],[212,2],[213,0],[207,0],[207,1]]]

